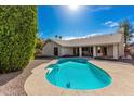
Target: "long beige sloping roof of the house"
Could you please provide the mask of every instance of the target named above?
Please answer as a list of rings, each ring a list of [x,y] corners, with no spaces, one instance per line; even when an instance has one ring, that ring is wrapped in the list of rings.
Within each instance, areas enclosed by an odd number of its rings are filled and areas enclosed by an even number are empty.
[[[113,45],[121,42],[121,34],[110,34],[110,35],[100,35],[89,38],[79,38],[71,40],[53,40],[59,46],[63,47],[80,47],[80,46],[94,46],[94,45]]]

